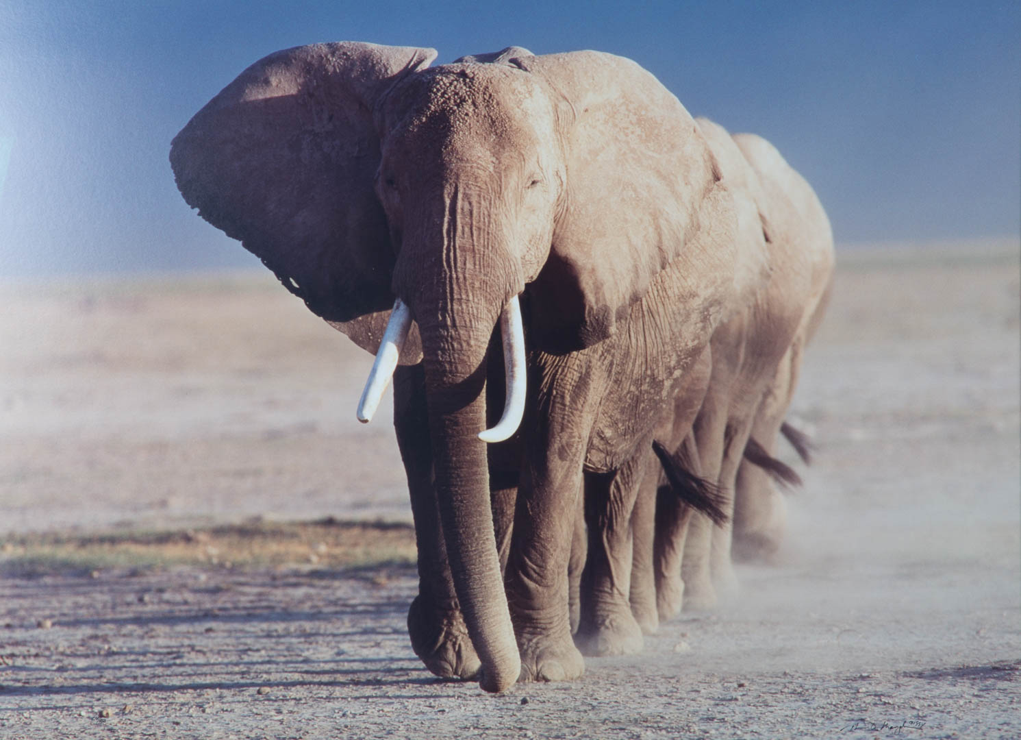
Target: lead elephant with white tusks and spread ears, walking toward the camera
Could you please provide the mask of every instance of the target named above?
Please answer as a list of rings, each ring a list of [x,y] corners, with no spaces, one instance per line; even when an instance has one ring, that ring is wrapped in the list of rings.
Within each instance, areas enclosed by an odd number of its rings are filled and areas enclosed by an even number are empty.
[[[593,531],[628,521],[665,410],[758,269],[702,127],[635,62],[435,57],[271,54],[192,118],[171,164],[203,219],[377,353],[359,419],[392,374],[412,646],[498,692],[581,675],[575,513]],[[589,557],[580,634],[626,642],[628,591]]]

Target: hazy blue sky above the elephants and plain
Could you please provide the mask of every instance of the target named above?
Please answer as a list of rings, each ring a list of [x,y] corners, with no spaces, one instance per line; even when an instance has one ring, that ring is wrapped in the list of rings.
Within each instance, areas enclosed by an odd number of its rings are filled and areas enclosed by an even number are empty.
[[[318,41],[635,59],[773,141],[838,244],[1017,235],[1017,2],[0,0],[0,276],[256,265],[178,194],[169,141],[252,61]]]

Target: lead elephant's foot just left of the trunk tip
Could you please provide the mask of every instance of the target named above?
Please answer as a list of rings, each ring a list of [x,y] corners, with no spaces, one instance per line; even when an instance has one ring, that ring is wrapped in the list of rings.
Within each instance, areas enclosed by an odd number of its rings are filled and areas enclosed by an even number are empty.
[[[457,608],[430,608],[422,596],[407,610],[407,633],[415,654],[441,679],[477,679],[482,663]]]

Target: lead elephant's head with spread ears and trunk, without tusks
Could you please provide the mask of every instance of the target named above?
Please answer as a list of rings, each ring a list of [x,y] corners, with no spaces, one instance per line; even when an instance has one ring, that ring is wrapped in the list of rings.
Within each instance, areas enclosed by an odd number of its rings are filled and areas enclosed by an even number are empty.
[[[421,344],[412,332],[401,362],[424,362],[454,585],[483,687],[503,690],[519,658],[479,438],[497,319],[514,323],[524,292],[535,348],[605,339],[726,193],[692,119],[634,62],[434,57],[272,54],[192,119],[171,161],[189,204],[360,346],[376,351],[395,299],[414,317]]]

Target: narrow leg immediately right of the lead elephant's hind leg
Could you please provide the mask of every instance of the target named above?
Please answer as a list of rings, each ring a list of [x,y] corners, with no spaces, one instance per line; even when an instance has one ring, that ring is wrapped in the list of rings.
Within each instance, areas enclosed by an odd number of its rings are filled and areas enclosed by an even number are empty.
[[[660,628],[657,605],[655,579],[655,527],[657,489],[660,483],[660,463],[652,460],[645,465],[631,512],[631,539],[633,543],[631,561],[631,613],[645,635],[653,635]],[[677,579],[681,577],[680,561],[677,563]]]

